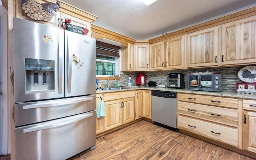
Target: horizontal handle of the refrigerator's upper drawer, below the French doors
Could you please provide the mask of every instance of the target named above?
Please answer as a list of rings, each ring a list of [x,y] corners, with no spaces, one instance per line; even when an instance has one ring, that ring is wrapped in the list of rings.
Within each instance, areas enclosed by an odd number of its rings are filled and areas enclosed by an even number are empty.
[[[89,101],[92,100],[92,97],[87,97],[87,98],[78,98],[76,100],[58,100],[55,102],[43,102],[40,104],[30,104],[30,105],[26,105],[23,106],[23,109],[33,109],[33,108],[45,108],[45,107],[54,107],[54,106],[61,106],[61,105],[65,105],[65,104],[74,104],[74,103],[78,103],[78,102],[84,102],[84,101]]]

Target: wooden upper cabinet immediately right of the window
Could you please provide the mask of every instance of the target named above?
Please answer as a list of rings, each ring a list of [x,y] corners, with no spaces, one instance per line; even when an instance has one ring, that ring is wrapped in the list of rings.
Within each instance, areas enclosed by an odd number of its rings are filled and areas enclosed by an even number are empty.
[[[134,70],[134,44],[122,46],[122,71]]]

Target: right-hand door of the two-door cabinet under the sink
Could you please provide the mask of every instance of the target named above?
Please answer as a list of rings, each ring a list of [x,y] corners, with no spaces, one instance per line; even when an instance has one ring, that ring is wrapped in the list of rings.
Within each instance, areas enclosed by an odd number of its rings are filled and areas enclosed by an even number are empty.
[[[134,114],[134,103],[135,103],[135,100],[134,100],[134,97],[131,97],[131,98],[125,98],[122,100],[122,103],[123,103],[123,107],[122,107],[122,110],[123,110],[123,114],[122,114],[122,124],[126,124],[128,122],[132,122],[135,120],[135,114]]]

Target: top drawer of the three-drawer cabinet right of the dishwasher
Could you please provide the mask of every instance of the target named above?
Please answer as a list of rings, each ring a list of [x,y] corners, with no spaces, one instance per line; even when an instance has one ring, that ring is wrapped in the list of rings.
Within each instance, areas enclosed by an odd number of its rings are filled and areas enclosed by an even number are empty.
[[[195,94],[178,94],[178,100],[192,103],[207,104],[211,106],[238,108],[238,99],[236,98],[202,96]]]

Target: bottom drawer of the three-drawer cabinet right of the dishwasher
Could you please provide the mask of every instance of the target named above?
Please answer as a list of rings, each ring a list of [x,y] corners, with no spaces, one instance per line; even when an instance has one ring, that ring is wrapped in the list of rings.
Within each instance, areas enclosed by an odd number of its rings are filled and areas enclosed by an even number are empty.
[[[178,128],[211,138],[232,146],[238,146],[238,130],[178,116]]]

